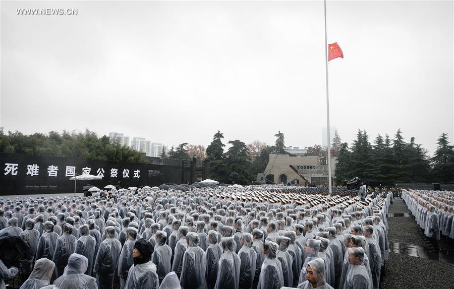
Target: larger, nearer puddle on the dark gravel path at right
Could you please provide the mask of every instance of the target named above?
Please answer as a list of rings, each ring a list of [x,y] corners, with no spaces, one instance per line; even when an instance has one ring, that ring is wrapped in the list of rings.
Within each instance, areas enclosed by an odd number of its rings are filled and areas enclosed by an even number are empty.
[[[438,250],[438,252],[435,252],[433,250],[429,251],[429,249],[425,247],[391,241],[389,241],[388,244],[389,251],[397,254],[405,254],[408,256],[454,264],[454,251]]]

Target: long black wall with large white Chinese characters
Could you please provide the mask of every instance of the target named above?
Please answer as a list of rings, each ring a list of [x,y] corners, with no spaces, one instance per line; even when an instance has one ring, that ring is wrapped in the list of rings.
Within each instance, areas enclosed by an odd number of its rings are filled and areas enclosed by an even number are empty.
[[[74,192],[70,177],[88,172],[102,180],[77,181],[76,192],[87,183],[103,188],[158,186],[164,183],[192,183],[183,165],[105,162],[75,158],[0,153],[0,195]]]

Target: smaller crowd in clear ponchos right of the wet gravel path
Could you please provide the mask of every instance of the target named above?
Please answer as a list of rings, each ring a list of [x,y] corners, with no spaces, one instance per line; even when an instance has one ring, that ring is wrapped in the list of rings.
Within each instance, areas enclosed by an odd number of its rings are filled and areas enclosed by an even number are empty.
[[[454,240],[454,192],[403,190],[402,198],[436,250],[440,239]]]

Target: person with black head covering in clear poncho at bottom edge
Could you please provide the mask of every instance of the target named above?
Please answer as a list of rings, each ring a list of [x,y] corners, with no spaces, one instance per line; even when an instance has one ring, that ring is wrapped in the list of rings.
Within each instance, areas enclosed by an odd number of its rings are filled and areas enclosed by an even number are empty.
[[[153,251],[153,246],[145,239],[140,239],[134,244],[134,265],[129,269],[125,289],[157,289],[159,287],[156,265],[150,261]]]

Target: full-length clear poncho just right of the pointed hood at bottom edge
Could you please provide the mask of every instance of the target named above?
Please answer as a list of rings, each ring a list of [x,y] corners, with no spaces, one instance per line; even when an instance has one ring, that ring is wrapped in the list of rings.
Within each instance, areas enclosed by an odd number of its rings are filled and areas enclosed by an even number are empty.
[[[183,269],[180,276],[182,287],[204,289],[206,287],[205,271],[206,256],[205,252],[198,246],[197,233],[186,235],[188,248],[183,257]]]

